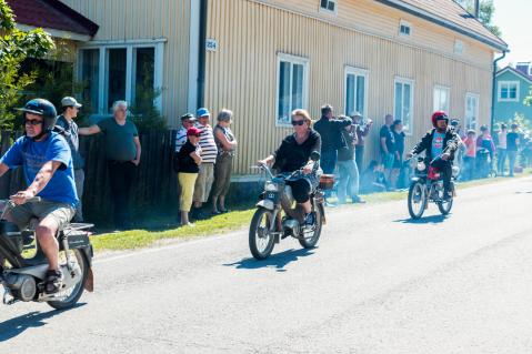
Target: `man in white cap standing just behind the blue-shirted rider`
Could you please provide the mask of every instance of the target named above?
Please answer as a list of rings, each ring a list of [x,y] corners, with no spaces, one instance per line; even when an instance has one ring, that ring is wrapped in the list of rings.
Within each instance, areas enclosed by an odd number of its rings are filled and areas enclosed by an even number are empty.
[[[72,221],[83,222],[82,196],[84,184],[84,159],[79,151],[79,128],[78,124],[74,122],[74,119],[78,118],[79,109],[82,105],[78,103],[74,98],[66,97],[61,100],[61,107],[63,109],[63,112],[62,114],[58,115],[58,121],[56,125],[61,127],[62,135],[64,136],[64,139],[67,139],[70,151],[72,153],[76,191],[80,201],[78,203],[78,208],[76,209],[76,215]]]

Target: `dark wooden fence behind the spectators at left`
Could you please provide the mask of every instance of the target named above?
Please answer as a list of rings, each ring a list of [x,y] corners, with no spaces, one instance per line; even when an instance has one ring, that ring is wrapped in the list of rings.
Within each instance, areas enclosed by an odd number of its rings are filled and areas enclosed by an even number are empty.
[[[20,132],[1,131],[0,152],[3,155]],[[131,195],[135,218],[169,212],[177,206],[177,176],[172,171],[175,131],[150,132],[140,135],[142,156],[133,179]],[[83,213],[87,220],[106,221],[112,214],[112,202],[100,135],[80,136],[80,151],[86,159]],[[21,169],[9,171],[0,179],[0,199],[24,188]]]

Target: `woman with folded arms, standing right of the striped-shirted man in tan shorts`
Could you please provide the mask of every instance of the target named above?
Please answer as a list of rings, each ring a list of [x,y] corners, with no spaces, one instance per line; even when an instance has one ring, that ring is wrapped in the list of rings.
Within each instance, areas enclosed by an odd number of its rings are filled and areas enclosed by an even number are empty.
[[[227,213],[225,194],[231,184],[231,170],[233,165],[237,139],[231,128],[233,112],[227,109],[218,113],[218,124],[214,127],[214,141],[218,145],[218,158],[214,164],[214,184],[212,186],[212,214]],[[220,208],[218,208],[220,202]]]

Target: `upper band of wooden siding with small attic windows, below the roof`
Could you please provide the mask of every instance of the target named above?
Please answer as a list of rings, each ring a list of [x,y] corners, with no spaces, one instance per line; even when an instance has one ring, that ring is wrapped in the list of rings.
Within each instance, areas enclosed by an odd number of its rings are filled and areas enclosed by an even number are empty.
[[[460,34],[441,26],[431,23],[415,16],[384,6],[374,0],[338,0],[337,16],[320,11],[320,0],[253,0],[281,9],[288,9],[309,17],[333,22],[338,26],[357,29],[375,36],[393,38],[410,45],[454,54],[454,40],[465,44],[465,52],[459,58],[476,64],[490,65],[493,53],[484,44],[479,44],[470,37]],[[401,20],[412,24],[411,38],[399,36]]]

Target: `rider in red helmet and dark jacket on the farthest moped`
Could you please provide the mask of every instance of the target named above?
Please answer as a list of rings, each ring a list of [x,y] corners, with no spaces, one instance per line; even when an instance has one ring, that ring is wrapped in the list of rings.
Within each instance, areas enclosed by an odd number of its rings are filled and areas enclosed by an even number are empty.
[[[420,143],[418,143],[411,153],[419,154],[425,151],[426,159],[432,161],[432,165],[443,173],[443,199],[451,199],[451,176],[454,152],[460,145],[460,138],[453,129],[449,127],[449,117],[443,111],[436,111],[432,114],[432,127]]]

